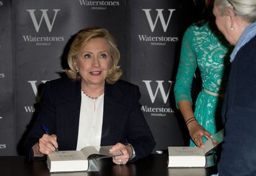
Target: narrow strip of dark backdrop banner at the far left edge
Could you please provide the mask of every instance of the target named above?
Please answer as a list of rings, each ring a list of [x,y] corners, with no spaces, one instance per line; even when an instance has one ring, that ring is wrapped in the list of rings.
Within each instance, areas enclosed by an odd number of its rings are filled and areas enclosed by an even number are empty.
[[[12,4],[0,1],[0,155],[15,154]]]

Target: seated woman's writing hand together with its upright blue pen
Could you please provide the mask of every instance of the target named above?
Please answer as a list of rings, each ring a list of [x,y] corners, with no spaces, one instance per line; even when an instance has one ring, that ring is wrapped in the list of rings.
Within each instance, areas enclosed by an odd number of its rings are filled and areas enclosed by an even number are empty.
[[[42,143],[42,148],[45,148],[47,150],[51,149],[52,147],[55,148],[55,151],[59,152],[58,149],[58,143],[57,143],[57,136],[56,135],[50,135],[48,128],[45,125],[42,125],[43,131],[46,135],[43,135],[42,138],[40,138],[40,142]],[[49,145],[50,143],[50,145]],[[47,153],[46,153],[47,154]]]

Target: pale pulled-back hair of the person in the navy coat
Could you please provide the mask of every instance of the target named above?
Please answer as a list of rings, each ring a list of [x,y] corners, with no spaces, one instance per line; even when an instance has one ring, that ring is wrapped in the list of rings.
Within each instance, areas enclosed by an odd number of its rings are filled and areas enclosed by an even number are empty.
[[[235,15],[252,23],[256,21],[256,0],[215,0],[221,14],[226,14],[226,9],[232,9]]]

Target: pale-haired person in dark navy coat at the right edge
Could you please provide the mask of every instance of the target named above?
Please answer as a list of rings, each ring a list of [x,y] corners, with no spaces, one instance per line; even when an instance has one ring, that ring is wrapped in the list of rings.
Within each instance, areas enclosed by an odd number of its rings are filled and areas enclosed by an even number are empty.
[[[219,175],[256,175],[256,0],[215,0],[216,25],[229,43],[232,67],[223,104]]]

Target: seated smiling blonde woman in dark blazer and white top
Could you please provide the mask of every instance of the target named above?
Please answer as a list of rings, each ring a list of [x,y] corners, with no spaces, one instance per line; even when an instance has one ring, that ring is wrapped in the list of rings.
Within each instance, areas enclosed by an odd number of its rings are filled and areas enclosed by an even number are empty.
[[[70,46],[68,78],[45,83],[25,149],[30,159],[59,150],[114,145],[116,164],[151,153],[155,140],[140,110],[139,87],[119,80],[120,54],[104,28],[86,28]],[[43,134],[46,125],[53,135]]]

